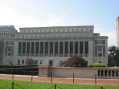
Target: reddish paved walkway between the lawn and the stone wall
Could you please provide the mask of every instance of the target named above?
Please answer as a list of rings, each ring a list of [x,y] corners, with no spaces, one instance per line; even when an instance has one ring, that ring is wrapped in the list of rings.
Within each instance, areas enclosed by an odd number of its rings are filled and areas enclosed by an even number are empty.
[[[12,80],[13,76],[0,74],[1,80]],[[119,85],[119,79],[90,79],[90,78],[51,78],[27,75],[14,75],[14,80],[25,80],[33,82],[66,83],[66,84],[97,84],[97,85]]]

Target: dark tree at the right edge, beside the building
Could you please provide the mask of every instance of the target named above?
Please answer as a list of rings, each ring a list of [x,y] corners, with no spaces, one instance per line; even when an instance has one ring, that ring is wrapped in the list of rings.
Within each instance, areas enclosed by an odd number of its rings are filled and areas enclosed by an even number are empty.
[[[119,48],[116,46],[109,47],[108,65],[119,66]]]

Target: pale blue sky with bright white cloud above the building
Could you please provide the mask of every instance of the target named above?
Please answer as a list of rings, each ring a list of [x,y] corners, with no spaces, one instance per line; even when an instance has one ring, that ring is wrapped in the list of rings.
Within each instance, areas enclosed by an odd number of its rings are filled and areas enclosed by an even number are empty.
[[[20,27],[94,25],[116,45],[119,0],[0,0],[0,25]]]

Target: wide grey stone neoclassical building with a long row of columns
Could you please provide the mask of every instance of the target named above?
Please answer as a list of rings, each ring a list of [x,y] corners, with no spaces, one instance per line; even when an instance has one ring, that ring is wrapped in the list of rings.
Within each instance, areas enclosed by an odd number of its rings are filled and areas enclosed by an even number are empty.
[[[0,64],[60,66],[71,56],[88,65],[107,64],[107,36],[94,33],[94,26],[25,27],[0,26]]]

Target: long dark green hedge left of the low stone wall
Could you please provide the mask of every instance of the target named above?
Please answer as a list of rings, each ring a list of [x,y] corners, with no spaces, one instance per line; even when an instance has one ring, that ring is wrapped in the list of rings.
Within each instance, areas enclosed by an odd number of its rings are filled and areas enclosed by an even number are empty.
[[[38,66],[37,65],[25,65],[25,66],[0,65],[0,73],[38,75]]]

